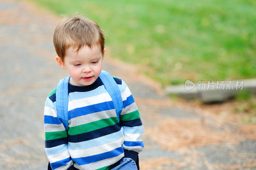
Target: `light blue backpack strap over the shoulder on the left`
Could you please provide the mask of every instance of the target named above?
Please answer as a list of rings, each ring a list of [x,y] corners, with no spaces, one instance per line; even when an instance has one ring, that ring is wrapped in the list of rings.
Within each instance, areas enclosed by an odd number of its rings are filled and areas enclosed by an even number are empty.
[[[56,89],[57,117],[68,130],[68,82],[70,76],[61,79]]]

